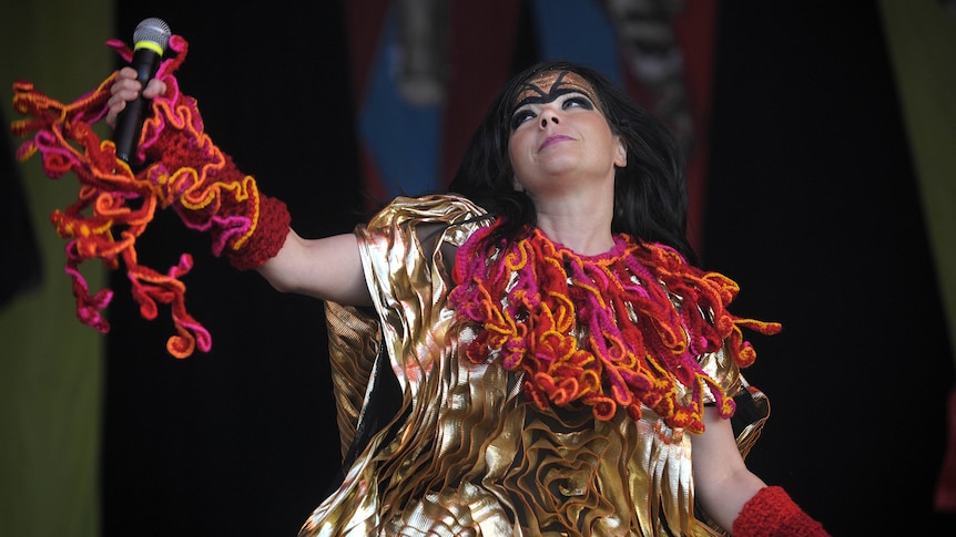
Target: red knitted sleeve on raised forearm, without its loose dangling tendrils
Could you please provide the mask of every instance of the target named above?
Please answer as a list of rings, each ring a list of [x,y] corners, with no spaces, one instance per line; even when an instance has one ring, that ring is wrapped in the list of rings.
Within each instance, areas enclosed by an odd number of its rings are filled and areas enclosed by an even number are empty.
[[[274,257],[285,241],[284,203],[258,192],[205,133],[195,99],[179,92],[174,78],[154,101],[156,115],[143,125],[141,154],[151,163],[136,176],[156,189],[187,227],[210,231],[213,254],[242,270]]]

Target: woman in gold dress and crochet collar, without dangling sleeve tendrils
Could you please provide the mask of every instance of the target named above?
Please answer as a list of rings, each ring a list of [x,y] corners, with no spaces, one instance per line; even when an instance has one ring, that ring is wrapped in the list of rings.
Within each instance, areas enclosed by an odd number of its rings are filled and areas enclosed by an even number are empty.
[[[779,327],[731,316],[735,285],[693,266],[677,146],[604,76],[520,73],[456,194],[322,239],[212,144],[172,70],[145,89],[121,70],[106,122],[141,90],[153,195],[327,301],[344,473],[301,536],[826,535],[744,464],[765,413],[729,421],[734,397],[765,404],[740,328]]]

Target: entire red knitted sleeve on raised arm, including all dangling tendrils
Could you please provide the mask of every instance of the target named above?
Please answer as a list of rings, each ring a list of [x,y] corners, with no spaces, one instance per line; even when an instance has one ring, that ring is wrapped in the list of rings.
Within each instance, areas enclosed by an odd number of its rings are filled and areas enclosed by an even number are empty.
[[[129,62],[133,51],[122,41],[108,44]],[[80,266],[100,260],[110,269],[125,266],[132,296],[145,319],[154,319],[157,304],[170,304],[176,333],[166,349],[177,358],[199,347],[209,351],[206,329],[186,311],[182,278],[193,267],[183,254],[166,272],[139,261],[136,241],[153,220],[155,208],[173,207],[189,227],[209,230],[213,251],[225,254],[241,269],[256,267],[273,257],[288,234],[288,213],[282,202],[260,194],[255,179],[242,174],[203,131],[195,100],[180,94],[173,73],[186,58],[189,44],[180,35],[170,38],[175,52],[163,60],[156,78],[166,92],[153,100],[156,112],[143,125],[136,158],[148,165],[139,173],[116,158],[112,141],[101,141],[92,125],[106,113],[114,76],[72,103],[41,93],[33,84],[14,84],[13,106],[29,117],[13,122],[11,131],[26,142],[17,157],[42,156],[51,178],[75,174],[80,192],[75,203],[55,210],[50,219],[65,247],[65,271],[73,281],[77,317],[101,332],[110,329],[101,311],[113,291],[90,293]]]

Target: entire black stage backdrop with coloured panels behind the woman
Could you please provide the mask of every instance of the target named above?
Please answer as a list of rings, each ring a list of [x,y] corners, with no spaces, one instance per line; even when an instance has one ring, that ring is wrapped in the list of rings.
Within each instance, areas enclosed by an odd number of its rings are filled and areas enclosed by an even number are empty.
[[[837,536],[952,527],[934,494],[954,376],[938,289],[953,289],[956,241],[927,229],[946,226],[936,207],[953,206],[954,172],[948,153],[924,147],[952,136],[953,92],[933,93],[932,107],[917,93],[949,80],[928,76],[952,60],[940,53],[953,50],[943,2],[445,3],[324,2],[315,14],[20,2],[0,21],[0,96],[9,111],[10,84],[23,78],[74,99],[116,66],[108,38],[164,18],[190,40],[180,79],[214,140],[316,236],[347,231],[395,193],[439,188],[490,82],[552,54],[596,63],[692,149],[692,234],[708,268],[741,283],[736,309],[784,323],[755,340],[747,372],[773,404],[752,467]],[[413,4],[447,23],[396,13]],[[642,23],[664,31],[628,32]],[[437,71],[419,74],[444,84],[398,76],[411,50],[437,54],[415,65],[437,58]],[[659,76],[635,85],[631,66],[652,60]],[[417,87],[415,106],[398,93],[403,80]],[[418,143],[406,146],[410,133]],[[399,178],[401,167],[417,183]],[[42,285],[0,309],[0,534],[294,535],[338,458],[322,304],[232,270],[207,237],[161,215],[141,258],[166,267],[194,255],[187,303],[213,351],[165,354],[166,312],[142,320],[122,273],[93,270],[92,287],[116,291],[113,332],[101,337],[73,318],[63,244],[48,221],[74,185],[35,162],[22,177]]]

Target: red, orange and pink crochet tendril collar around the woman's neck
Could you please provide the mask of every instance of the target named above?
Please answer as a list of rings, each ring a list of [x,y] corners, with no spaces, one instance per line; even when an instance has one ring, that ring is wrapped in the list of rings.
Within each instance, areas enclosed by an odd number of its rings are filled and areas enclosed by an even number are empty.
[[[722,416],[735,406],[696,357],[726,343],[744,368],[755,352],[741,328],[781,330],[779,323],[732,316],[726,306],[736,283],[688,265],[665,246],[618,235],[611,251],[584,257],[535,229],[492,250],[489,261],[484,241],[492,229],[477,231],[459,249],[459,285],[450,298],[460,314],[484,328],[468,358],[482,363],[500,357],[506,369],[523,372],[525,393],[542,410],[581,401],[599,420],[610,420],[619,407],[638,420],[643,403],[670,426],[701,432],[704,390]],[[689,389],[687,400],[678,383]]]

